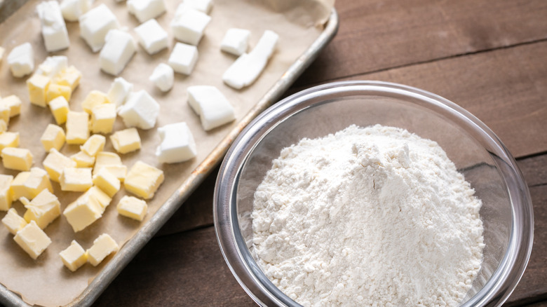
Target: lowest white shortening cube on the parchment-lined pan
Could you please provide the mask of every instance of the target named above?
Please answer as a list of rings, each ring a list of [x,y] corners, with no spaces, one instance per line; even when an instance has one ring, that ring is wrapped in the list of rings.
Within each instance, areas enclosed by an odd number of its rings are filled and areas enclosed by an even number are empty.
[[[160,163],[179,163],[196,156],[196,142],[186,123],[164,125],[158,128],[158,133],[161,143],[156,148],[156,156]]]

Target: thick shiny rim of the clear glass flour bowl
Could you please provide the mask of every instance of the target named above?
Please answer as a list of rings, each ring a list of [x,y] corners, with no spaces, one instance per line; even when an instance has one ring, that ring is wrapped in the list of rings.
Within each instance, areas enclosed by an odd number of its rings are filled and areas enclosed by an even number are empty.
[[[447,112],[452,120],[465,125],[487,142],[494,163],[503,175],[511,200],[511,233],[504,258],[491,278],[461,306],[501,306],[511,295],[528,264],[534,236],[532,200],[525,179],[506,146],[482,121],[439,95],[426,90],[384,81],[339,81],[302,90],[262,112],[234,140],[227,151],[215,184],[213,221],[222,256],[245,292],[261,306],[300,306],[277,289],[252,258],[239,227],[236,191],[245,163],[257,144],[290,116],[332,98],[356,95],[389,94],[412,98],[429,109]]]

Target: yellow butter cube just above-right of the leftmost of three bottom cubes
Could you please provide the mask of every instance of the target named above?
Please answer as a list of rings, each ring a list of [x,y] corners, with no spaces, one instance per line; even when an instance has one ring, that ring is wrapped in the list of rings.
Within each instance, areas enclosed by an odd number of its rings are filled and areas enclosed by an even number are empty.
[[[25,221],[35,221],[40,228],[46,228],[53,220],[61,215],[61,203],[57,196],[53,195],[48,189],[43,189],[30,202],[26,198],[21,198],[27,212],[23,216]]]

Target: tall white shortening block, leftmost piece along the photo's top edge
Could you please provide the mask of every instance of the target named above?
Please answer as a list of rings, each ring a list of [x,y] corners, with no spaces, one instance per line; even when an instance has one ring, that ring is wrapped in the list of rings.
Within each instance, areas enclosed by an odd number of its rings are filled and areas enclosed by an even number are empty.
[[[67,26],[58,1],[44,1],[36,6],[42,26],[43,43],[48,52],[69,47]]]

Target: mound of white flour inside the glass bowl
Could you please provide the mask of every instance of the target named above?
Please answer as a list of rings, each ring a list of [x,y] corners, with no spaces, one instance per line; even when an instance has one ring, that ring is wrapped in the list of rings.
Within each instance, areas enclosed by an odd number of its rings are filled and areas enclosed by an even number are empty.
[[[355,125],[281,151],[253,247],[304,306],[457,306],[481,259],[480,200],[437,143]]]

